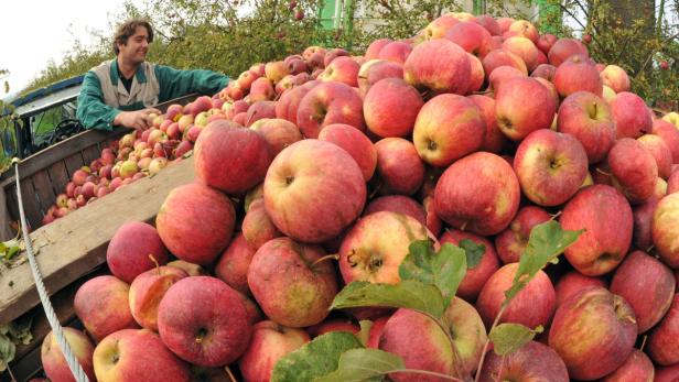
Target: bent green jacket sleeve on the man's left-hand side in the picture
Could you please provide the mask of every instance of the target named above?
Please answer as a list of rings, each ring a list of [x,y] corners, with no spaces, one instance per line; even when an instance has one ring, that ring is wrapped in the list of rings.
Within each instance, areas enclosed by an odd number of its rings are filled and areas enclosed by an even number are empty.
[[[85,129],[114,129],[114,119],[120,110],[104,103],[101,84],[94,72],[87,72],[78,95],[76,117]]]

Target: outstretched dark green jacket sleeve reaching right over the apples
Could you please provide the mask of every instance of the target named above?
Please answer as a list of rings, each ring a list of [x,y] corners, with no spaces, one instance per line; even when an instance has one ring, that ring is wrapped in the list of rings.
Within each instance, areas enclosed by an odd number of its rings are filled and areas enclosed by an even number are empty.
[[[160,84],[159,102],[183,97],[191,92],[214,95],[228,84],[228,77],[211,70],[180,70],[155,65],[155,78]]]

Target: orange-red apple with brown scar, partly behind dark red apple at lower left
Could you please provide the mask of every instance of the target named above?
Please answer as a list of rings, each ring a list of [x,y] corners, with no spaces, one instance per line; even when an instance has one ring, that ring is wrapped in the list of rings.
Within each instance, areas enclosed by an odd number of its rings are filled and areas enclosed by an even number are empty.
[[[177,281],[188,277],[174,266],[159,266],[141,273],[130,285],[130,312],[134,320],[149,330],[158,331],[158,304]]]

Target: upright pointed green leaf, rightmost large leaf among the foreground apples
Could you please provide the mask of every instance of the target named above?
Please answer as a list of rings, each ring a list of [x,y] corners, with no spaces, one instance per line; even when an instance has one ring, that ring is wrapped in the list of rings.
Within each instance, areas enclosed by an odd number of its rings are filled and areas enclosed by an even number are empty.
[[[583,232],[565,231],[553,220],[543,222],[532,228],[528,245],[519,260],[519,269],[514,276],[511,287],[505,292],[505,302],[508,305],[535,275],[543,269],[547,263],[552,262],[565,249],[578,240]]]

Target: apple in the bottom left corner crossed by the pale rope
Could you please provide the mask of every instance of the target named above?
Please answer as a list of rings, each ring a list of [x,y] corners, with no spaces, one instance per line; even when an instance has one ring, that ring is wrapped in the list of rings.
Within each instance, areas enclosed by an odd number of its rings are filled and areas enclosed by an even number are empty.
[[[85,374],[90,381],[96,381],[95,370],[91,363],[91,354],[95,347],[87,336],[74,328],[64,327],[64,338],[71,347],[71,351],[77,359],[78,363],[85,371]],[[68,368],[66,358],[58,345],[56,336],[50,331],[43,339],[42,348],[40,349],[40,360],[45,371],[45,375],[53,382],[75,382],[73,372]]]

